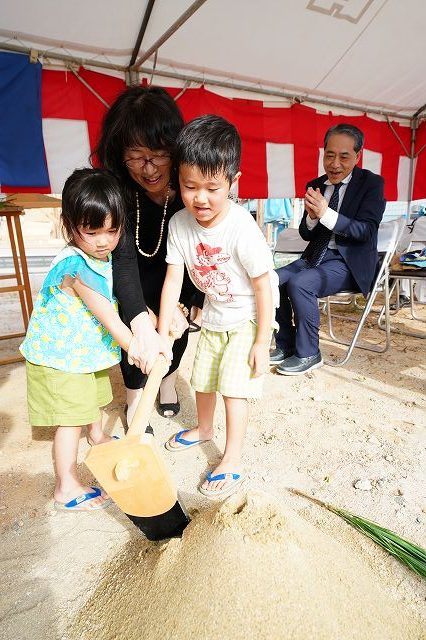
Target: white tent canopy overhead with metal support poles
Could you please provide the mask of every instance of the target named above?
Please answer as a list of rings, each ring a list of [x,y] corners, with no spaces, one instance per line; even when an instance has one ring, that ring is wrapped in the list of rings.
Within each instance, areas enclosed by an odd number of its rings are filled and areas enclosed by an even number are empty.
[[[426,104],[424,0],[3,0],[0,48],[124,70],[149,11],[145,72],[404,119]]]

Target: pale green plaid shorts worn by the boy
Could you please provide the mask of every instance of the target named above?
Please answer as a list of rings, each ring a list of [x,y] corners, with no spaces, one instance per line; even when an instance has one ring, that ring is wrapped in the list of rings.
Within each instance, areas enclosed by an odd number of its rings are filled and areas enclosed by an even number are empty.
[[[256,331],[253,320],[232,331],[201,329],[191,377],[195,391],[260,398],[264,376],[254,378],[248,363]]]

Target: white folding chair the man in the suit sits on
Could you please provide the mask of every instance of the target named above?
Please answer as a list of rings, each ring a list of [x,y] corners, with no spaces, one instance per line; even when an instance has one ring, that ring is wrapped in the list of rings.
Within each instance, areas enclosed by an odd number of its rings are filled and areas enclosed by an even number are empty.
[[[392,220],[391,222],[383,222],[379,227],[378,233],[378,244],[377,251],[380,257],[380,266],[377,270],[376,277],[371,287],[371,291],[367,296],[366,303],[362,312],[358,318],[355,319],[356,328],[353,332],[352,338],[350,340],[346,340],[344,338],[338,337],[335,334],[333,328],[333,318],[340,317],[344,320],[353,320],[353,318],[349,318],[348,316],[336,316],[332,313],[331,305],[332,302],[338,301],[339,298],[348,298],[348,296],[361,295],[356,294],[355,291],[341,291],[333,296],[328,296],[325,299],[326,302],[326,313],[328,318],[328,333],[329,337],[333,342],[337,342],[338,344],[342,344],[348,347],[344,356],[339,360],[331,360],[326,361],[326,364],[340,367],[346,364],[349,358],[352,355],[352,351],[355,347],[360,349],[367,349],[368,351],[375,351],[378,353],[384,353],[389,349],[390,346],[390,314],[389,314],[389,268],[392,257],[395,253],[396,246],[398,240],[403,232],[405,225],[405,221],[403,218],[398,218],[397,220]],[[373,304],[379,293],[384,294],[384,303],[381,315],[383,317],[383,328],[386,332],[385,341],[377,342],[377,343],[366,343],[366,342],[358,342],[359,335],[361,333],[362,328],[364,327],[365,321],[372,310]]]

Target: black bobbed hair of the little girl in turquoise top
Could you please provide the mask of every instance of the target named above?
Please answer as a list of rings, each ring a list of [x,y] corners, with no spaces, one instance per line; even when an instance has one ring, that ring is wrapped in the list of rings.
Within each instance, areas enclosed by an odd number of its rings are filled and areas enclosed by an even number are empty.
[[[76,169],[62,191],[61,222],[68,242],[79,226],[101,229],[109,215],[112,228],[123,228],[125,209],[117,178],[103,169]]]

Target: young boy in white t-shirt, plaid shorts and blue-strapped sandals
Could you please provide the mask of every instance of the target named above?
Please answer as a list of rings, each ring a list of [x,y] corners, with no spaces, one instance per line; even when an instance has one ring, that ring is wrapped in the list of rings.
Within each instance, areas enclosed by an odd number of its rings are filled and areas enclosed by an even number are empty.
[[[232,493],[243,480],[247,399],[261,396],[278,301],[278,282],[265,238],[248,211],[228,198],[241,176],[240,156],[239,134],[223,118],[196,118],[179,134],[176,163],[186,209],[169,224],[158,325],[159,333],[167,336],[186,265],[194,284],[205,293],[191,378],[198,425],[175,434],[166,448],[184,451],[211,440],[216,392],[222,394],[225,453],[200,487],[210,498]]]

